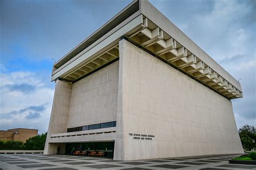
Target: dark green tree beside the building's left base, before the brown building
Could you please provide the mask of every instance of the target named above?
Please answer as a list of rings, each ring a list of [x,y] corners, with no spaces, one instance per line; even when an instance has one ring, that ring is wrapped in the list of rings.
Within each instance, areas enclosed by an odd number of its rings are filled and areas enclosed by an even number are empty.
[[[28,150],[43,150],[47,133],[42,133],[35,137],[29,138],[24,144],[24,148]]]

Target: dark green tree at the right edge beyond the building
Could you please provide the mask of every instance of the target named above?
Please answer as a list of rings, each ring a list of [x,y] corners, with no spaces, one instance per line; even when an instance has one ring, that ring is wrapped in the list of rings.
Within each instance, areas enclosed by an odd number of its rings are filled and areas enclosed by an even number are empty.
[[[256,129],[254,126],[245,125],[239,129],[239,136],[241,139],[242,147],[246,151],[251,151],[256,148]]]

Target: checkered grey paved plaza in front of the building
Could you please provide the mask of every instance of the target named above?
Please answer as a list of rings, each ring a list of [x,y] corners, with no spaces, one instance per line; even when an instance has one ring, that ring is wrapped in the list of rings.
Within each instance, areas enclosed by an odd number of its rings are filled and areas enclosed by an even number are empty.
[[[256,169],[252,165],[228,164],[236,155],[205,155],[140,161],[114,161],[108,158],[70,155],[0,154],[0,170],[6,169]]]

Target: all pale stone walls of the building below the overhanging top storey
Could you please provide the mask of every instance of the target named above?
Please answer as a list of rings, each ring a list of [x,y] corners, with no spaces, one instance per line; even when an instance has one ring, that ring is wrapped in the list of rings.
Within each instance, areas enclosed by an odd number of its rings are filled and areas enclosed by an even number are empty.
[[[74,84],[57,80],[45,154],[89,141],[114,141],[114,160],[243,153],[230,100],[124,39],[119,47],[118,62]],[[108,121],[117,126],[66,133]]]

